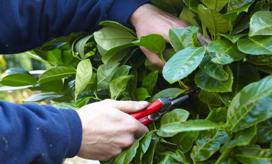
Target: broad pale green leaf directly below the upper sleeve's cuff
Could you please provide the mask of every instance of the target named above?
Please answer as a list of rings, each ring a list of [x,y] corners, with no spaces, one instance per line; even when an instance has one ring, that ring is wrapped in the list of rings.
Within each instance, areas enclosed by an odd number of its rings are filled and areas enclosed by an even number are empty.
[[[93,33],[94,39],[105,50],[112,49],[123,44],[130,43],[137,39],[132,33],[127,30],[117,27],[104,27]]]

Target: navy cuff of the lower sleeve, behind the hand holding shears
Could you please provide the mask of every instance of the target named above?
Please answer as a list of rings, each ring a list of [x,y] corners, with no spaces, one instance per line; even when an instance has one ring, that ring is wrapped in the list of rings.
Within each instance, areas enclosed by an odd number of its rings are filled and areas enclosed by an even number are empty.
[[[82,124],[78,113],[72,109],[59,109],[67,120],[70,133],[70,142],[65,158],[76,156],[80,150],[82,141]]]

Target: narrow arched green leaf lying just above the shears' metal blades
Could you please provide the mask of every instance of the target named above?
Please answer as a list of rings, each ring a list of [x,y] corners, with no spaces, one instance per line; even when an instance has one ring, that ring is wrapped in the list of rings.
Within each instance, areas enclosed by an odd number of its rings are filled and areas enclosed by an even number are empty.
[[[186,90],[182,90],[179,88],[167,88],[165,90],[160,91],[159,93],[157,93],[156,95],[154,95],[149,102],[153,102],[156,99],[160,98],[160,97],[176,97],[179,95],[185,95],[187,92]]]

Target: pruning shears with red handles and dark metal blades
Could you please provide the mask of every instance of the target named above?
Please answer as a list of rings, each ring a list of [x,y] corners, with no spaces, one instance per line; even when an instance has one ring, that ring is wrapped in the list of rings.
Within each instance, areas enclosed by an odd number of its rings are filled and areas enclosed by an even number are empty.
[[[153,103],[149,104],[146,109],[130,113],[129,115],[133,116],[142,124],[148,125],[153,121],[160,120],[165,113],[177,108],[182,102],[192,97],[194,93],[198,92],[198,90],[199,88],[177,98],[158,98]]]

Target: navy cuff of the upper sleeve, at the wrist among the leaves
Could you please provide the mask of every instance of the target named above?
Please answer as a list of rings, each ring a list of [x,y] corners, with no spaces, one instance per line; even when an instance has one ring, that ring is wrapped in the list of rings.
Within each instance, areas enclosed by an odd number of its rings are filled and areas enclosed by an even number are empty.
[[[129,16],[145,3],[151,3],[149,0],[115,0],[108,10],[108,20],[117,21],[124,26],[132,27],[128,23]]]

